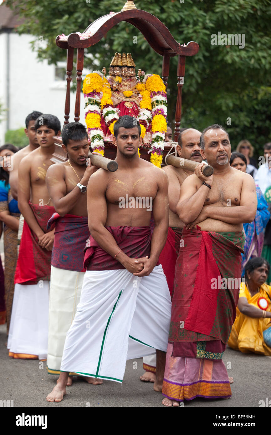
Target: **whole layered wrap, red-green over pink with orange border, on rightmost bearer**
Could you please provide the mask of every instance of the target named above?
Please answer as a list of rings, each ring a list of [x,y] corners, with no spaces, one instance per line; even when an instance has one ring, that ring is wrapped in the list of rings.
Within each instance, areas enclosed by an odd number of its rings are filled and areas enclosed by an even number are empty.
[[[230,397],[227,370],[221,360],[236,315],[244,233],[184,228],[182,239],[162,393],[178,401],[197,396]],[[203,369],[201,360],[213,363]]]

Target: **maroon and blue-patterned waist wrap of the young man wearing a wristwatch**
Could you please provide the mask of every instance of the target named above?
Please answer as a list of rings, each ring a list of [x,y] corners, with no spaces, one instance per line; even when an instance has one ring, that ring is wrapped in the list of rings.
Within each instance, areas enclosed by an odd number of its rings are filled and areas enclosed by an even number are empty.
[[[84,248],[89,238],[87,216],[54,213],[47,229],[55,223],[54,248],[51,264],[55,268],[84,272]]]

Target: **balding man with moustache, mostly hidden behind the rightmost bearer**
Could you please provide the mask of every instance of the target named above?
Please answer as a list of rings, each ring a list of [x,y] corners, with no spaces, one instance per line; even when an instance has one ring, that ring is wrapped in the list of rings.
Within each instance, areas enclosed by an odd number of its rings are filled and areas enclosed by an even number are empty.
[[[167,128],[170,128],[169,126]],[[176,146],[177,154],[184,159],[193,160],[201,163],[200,148],[201,132],[194,128],[187,128],[182,131],[178,137]],[[162,168],[168,177],[168,201],[169,201],[169,228],[167,233],[166,244],[160,254],[159,260],[162,264],[164,274],[167,278],[167,285],[171,295],[173,294],[174,270],[179,253],[180,239],[184,223],[180,220],[176,212],[176,206],[180,198],[181,185],[185,178],[193,174],[186,171],[182,166],[174,167],[171,165]],[[155,381],[156,355],[146,356],[143,358],[143,368],[145,373],[140,376],[141,381]]]

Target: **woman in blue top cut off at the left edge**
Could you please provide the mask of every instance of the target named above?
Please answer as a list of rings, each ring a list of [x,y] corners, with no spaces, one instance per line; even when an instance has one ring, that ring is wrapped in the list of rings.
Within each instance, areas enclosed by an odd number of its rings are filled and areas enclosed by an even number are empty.
[[[0,221],[4,225],[5,254],[5,293],[7,310],[7,333],[10,326],[11,308],[14,294],[14,274],[17,261],[17,232],[20,211],[10,194],[9,171],[12,169],[12,156],[18,149],[12,144],[0,147]]]

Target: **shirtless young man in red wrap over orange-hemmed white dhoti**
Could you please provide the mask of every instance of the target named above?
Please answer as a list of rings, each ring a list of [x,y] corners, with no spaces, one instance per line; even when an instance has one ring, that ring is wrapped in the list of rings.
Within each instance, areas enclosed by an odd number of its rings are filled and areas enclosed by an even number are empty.
[[[46,228],[55,211],[45,176],[52,164],[54,136],[60,135],[60,121],[54,115],[40,115],[35,130],[40,147],[24,157],[19,167],[18,206],[25,221],[7,347],[13,358],[44,359],[47,357],[50,263],[54,244],[54,229],[47,231]]]

